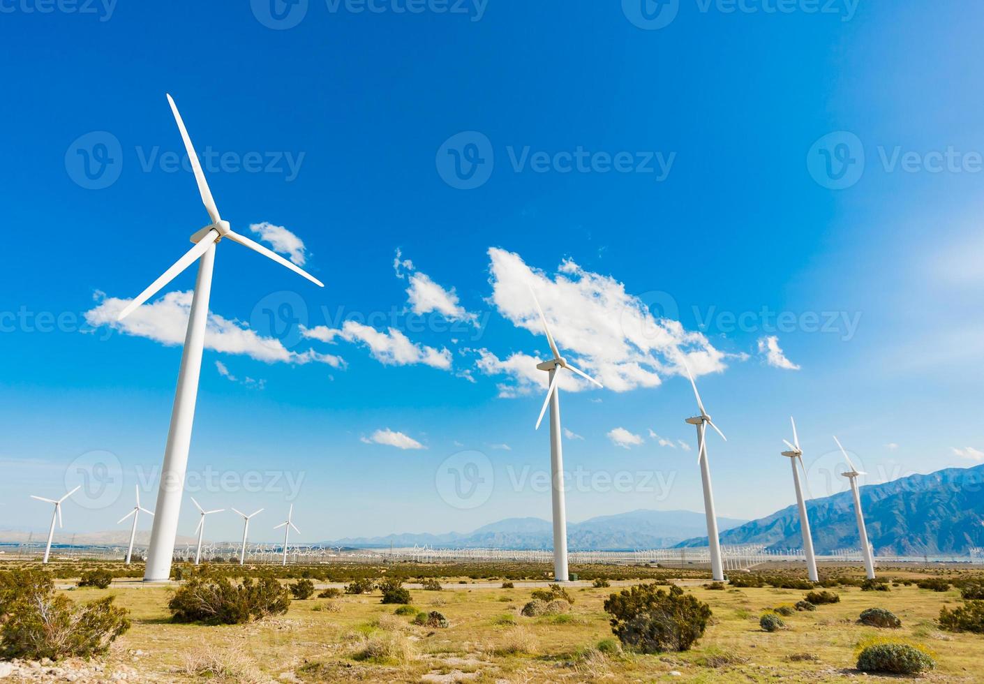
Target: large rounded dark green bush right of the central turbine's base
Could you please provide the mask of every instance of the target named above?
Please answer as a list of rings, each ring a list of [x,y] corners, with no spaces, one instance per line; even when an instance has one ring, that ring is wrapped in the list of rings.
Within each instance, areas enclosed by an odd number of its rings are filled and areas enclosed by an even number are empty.
[[[604,608],[619,641],[643,653],[689,651],[711,615],[707,603],[676,585],[669,592],[649,584],[613,593]]]

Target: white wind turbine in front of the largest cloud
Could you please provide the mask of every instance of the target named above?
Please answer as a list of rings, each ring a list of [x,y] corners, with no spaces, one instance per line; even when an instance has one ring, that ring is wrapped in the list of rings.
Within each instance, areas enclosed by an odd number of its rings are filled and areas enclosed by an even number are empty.
[[[536,311],[539,312],[540,321],[543,323],[543,332],[546,333],[547,342],[550,343],[550,351],[552,351],[554,355],[554,357],[549,361],[543,361],[542,363],[536,364],[536,368],[538,370],[545,370],[550,374],[547,398],[543,401],[543,407],[540,408],[539,417],[536,418],[536,429],[540,429],[540,423],[543,421],[543,414],[546,412],[547,405],[549,405],[550,491],[553,503],[554,524],[554,580],[557,582],[568,582],[571,576],[567,570],[567,505],[564,502],[564,455],[562,453],[560,443],[560,388],[557,387],[557,382],[560,380],[560,374],[557,371],[561,368],[566,368],[569,371],[577,373],[586,380],[589,380],[598,387],[602,387],[602,385],[597,380],[584,373],[584,371],[572,366],[567,362],[567,359],[560,355],[560,350],[557,349],[557,344],[554,342],[553,336],[550,335],[550,328],[547,326],[547,318],[543,315],[543,309],[540,307],[540,302],[536,298],[536,293],[533,292],[532,287],[529,288],[529,293],[532,295],[533,302],[536,304]]]

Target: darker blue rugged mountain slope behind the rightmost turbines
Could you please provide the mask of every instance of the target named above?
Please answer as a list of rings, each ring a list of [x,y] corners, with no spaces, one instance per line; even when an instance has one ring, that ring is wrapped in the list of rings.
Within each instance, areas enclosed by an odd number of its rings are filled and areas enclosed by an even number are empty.
[[[790,489],[792,483],[789,484]],[[984,465],[952,467],[860,488],[868,536],[883,555],[963,555],[984,546]],[[807,503],[814,547],[819,553],[859,548],[854,503],[841,492]],[[725,544],[799,548],[803,537],[796,506],[721,534]],[[707,536],[679,546],[707,546]]]

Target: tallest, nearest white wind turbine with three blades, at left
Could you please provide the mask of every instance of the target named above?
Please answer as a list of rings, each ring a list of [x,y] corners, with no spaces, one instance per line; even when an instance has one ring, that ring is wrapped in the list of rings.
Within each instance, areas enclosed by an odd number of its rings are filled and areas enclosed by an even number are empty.
[[[150,299],[168,282],[173,280],[188,268],[192,262],[199,260],[198,279],[195,281],[195,293],[191,302],[191,314],[188,317],[188,329],[185,333],[184,350],[181,354],[181,370],[178,372],[178,385],[174,394],[174,405],[171,409],[171,425],[167,432],[167,445],[164,448],[164,463],[160,472],[160,485],[157,491],[157,515],[154,516],[154,528],[151,531],[151,544],[147,554],[147,570],[144,573],[145,582],[163,582],[170,577],[171,559],[174,554],[174,538],[178,529],[178,514],[181,509],[181,492],[184,487],[185,470],[188,465],[188,449],[191,443],[192,424],[195,419],[195,401],[198,396],[199,374],[202,370],[202,351],[205,346],[205,329],[209,318],[209,297],[212,293],[212,272],[215,264],[215,245],[222,238],[249,247],[265,257],[269,257],[291,271],[311,280],[320,287],[324,284],[287,261],[280,255],[267,249],[261,244],[233,232],[229,222],[223,220],[215,207],[212,191],[202,172],[195,148],[185,129],[181,114],[171,96],[167,95],[171,112],[181,132],[185,151],[195,172],[198,191],[202,202],[209,213],[212,222],[191,236],[195,243],[183,257],[160,278],[141,292],[120,313],[119,320],[126,318],[141,304]]]

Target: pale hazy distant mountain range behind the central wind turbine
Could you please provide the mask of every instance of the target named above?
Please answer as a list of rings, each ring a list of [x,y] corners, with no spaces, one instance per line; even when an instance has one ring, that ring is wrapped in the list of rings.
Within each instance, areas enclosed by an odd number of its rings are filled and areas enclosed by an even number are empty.
[[[719,518],[720,529],[731,529],[745,521]],[[703,513],[693,511],[632,511],[591,518],[567,526],[568,547],[584,551],[621,551],[663,548],[706,529]],[[389,534],[346,537],[325,542],[336,546],[395,547],[434,546],[470,548],[553,548],[553,527],[540,518],[507,518],[471,532],[447,534]]]

